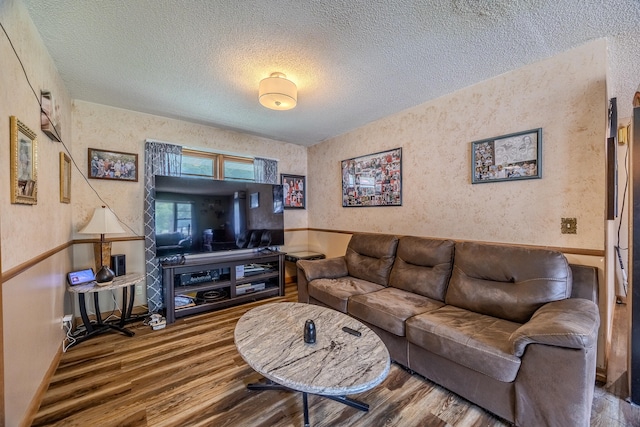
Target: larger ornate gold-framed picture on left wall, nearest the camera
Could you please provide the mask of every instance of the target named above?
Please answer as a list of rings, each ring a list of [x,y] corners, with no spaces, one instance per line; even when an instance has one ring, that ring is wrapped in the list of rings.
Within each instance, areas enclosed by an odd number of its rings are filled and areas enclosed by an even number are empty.
[[[11,138],[11,203],[38,202],[38,142],[36,134],[15,116],[9,118]]]

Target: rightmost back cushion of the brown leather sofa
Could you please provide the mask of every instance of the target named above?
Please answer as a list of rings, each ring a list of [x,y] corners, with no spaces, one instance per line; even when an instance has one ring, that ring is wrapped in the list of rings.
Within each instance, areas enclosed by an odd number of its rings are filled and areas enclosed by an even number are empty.
[[[571,297],[571,268],[560,252],[456,243],[445,302],[525,323],[542,305]]]

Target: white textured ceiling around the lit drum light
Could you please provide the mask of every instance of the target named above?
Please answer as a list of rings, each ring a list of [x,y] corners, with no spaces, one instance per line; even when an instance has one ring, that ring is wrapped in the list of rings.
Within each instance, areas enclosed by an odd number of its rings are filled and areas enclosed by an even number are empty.
[[[640,83],[638,0],[22,1],[72,98],[300,145],[601,37],[619,117]]]

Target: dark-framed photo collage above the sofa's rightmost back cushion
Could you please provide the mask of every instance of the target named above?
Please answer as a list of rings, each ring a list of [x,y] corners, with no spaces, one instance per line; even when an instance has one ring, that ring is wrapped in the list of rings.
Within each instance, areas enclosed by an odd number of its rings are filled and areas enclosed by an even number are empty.
[[[471,182],[542,178],[542,128],[471,143]]]

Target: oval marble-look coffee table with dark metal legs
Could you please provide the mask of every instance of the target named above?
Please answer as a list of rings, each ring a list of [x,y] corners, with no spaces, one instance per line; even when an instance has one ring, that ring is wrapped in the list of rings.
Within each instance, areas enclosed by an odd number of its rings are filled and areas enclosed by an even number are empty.
[[[314,344],[303,339],[307,319],[316,326]],[[361,335],[343,331],[345,326]],[[238,320],[234,338],[242,358],[267,379],[247,387],[302,392],[305,426],[309,425],[307,393],[368,411],[369,405],[346,395],[377,386],[389,373],[389,352],[375,332],[317,305],[280,302],[256,307]]]

